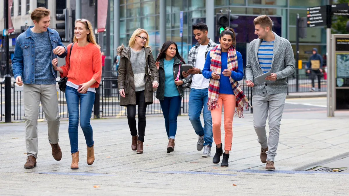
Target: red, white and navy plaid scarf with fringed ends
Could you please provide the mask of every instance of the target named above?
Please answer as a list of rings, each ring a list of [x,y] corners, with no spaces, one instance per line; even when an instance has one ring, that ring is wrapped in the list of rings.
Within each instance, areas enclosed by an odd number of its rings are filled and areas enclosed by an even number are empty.
[[[210,51],[211,66],[210,71],[214,71],[221,75],[222,61],[221,61],[221,45],[214,47]],[[228,69],[231,71],[236,71],[238,69],[238,61],[235,47],[231,46],[228,51]],[[244,92],[241,90],[238,81],[233,80],[229,77],[231,87],[233,89],[234,95],[236,97],[236,111],[235,116],[239,115],[240,118],[244,118],[243,110],[244,107],[247,109],[249,106],[248,99],[246,98]],[[210,79],[210,84],[208,86],[208,110],[213,110],[216,107],[220,107],[218,104],[218,94],[219,94],[219,79]]]

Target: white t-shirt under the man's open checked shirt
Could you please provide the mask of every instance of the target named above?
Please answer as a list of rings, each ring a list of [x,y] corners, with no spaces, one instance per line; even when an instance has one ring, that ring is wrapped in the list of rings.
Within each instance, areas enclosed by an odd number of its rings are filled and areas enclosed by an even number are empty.
[[[206,53],[207,47],[208,45],[200,44],[198,54],[196,55],[195,67],[201,70],[205,66],[205,61],[206,61],[205,53]],[[208,88],[208,85],[210,84],[210,79],[206,79],[205,77],[203,77],[202,74],[194,74],[192,77],[193,77],[193,80],[192,80],[191,88],[194,88],[194,89]]]

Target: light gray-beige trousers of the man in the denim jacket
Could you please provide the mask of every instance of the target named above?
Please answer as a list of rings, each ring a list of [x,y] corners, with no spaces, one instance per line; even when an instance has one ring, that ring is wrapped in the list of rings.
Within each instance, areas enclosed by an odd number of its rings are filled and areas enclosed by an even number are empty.
[[[59,110],[56,84],[24,84],[25,145],[27,156],[38,155],[39,103],[47,120],[50,144],[58,143]]]

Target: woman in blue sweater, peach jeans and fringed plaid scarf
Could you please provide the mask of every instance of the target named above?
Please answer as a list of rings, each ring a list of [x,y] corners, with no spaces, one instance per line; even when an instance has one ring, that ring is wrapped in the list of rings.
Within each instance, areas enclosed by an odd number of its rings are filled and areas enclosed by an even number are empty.
[[[212,116],[212,132],[216,143],[213,163],[218,164],[223,155],[221,167],[228,167],[229,151],[233,137],[232,123],[234,114],[243,117],[248,99],[237,81],[244,77],[242,55],[235,50],[235,32],[225,28],[220,35],[220,44],[207,55],[202,75],[210,78],[208,87],[208,110]],[[224,150],[221,142],[222,105],[224,107]],[[236,107],[236,111],[235,111]]]

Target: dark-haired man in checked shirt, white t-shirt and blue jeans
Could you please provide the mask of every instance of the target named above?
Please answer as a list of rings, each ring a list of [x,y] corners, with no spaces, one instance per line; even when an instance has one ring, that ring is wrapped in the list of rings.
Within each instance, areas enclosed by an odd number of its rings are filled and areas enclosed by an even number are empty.
[[[189,80],[186,87],[191,88],[188,115],[195,133],[199,136],[196,149],[198,151],[204,149],[202,157],[210,157],[213,142],[211,112],[207,108],[210,80],[202,76],[202,69],[205,65],[207,53],[217,44],[207,37],[208,28],[205,23],[194,25],[193,32],[198,43],[190,49],[187,64],[193,65],[194,68],[188,69],[188,72],[183,72],[183,76],[188,77]],[[204,127],[202,127],[200,121],[202,107]]]

